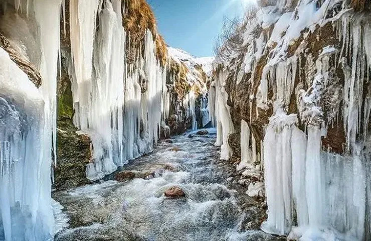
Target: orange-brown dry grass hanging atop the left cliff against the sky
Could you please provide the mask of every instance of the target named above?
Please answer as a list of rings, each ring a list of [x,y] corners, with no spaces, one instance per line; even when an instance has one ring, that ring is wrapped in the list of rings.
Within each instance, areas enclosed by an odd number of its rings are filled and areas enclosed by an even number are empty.
[[[163,38],[158,34],[156,27],[156,18],[151,7],[145,0],[125,1],[125,16],[123,17],[124,28],[130,36],[130,49],[126,52],[126,58],[133,62],[138,57],[137,50],[143,44],[147,29],[153,35],[153,41],[156,43],[156,57],[164,66],[167,57],[166,44]]]

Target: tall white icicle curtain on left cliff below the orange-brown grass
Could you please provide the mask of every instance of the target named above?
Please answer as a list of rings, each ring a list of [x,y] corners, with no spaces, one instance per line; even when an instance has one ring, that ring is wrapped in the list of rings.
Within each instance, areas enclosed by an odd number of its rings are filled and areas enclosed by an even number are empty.
[[[144,55],[134,65],[126,63],[124,12],[121,0],[105,0],[103,6],[98,0],[70,2],[74,124],[92,140],[90,180],[152,151],[169,112],[166,69],[156,59],[150,31]],[[146,92],[138,79],[147,84]]]

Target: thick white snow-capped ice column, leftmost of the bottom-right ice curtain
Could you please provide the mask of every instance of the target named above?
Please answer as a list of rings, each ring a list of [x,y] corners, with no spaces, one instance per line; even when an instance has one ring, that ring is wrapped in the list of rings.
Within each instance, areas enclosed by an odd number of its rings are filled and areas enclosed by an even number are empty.
[[[277,112],[271,117],[264,137],[264,177],[268,204],[268,219],[262,224],[266,232],[287,234],[292,226],[293,185],[292,160],[302,162],[302,156],[292,150],[301,131],[295,126],[297,117]],[[300,132],[300,133],[298,133]],[[295,170],[296,171],[296,170]],[[296,189],[294,189],[296,190]]]

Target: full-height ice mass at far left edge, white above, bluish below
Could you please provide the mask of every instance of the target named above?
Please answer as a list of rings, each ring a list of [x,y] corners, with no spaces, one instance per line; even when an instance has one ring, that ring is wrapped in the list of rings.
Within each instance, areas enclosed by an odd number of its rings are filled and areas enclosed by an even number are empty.
[[[5,15],[19,14],[17,21],[25,19],[22,21],[29,23],[11,30],[29,27],[38,33],[38,50],[28,49],[27,42],[17,45],[13,39],[12,43],[28,54],[41,50],[38,67],[43,82],[37,89],[0,48],[0,240],[51,240],[55,234],[51,165],[52,150],[56,157],[61,1],[18,0],[2,4]],[[25,56],[31,58],[28,54]]]

